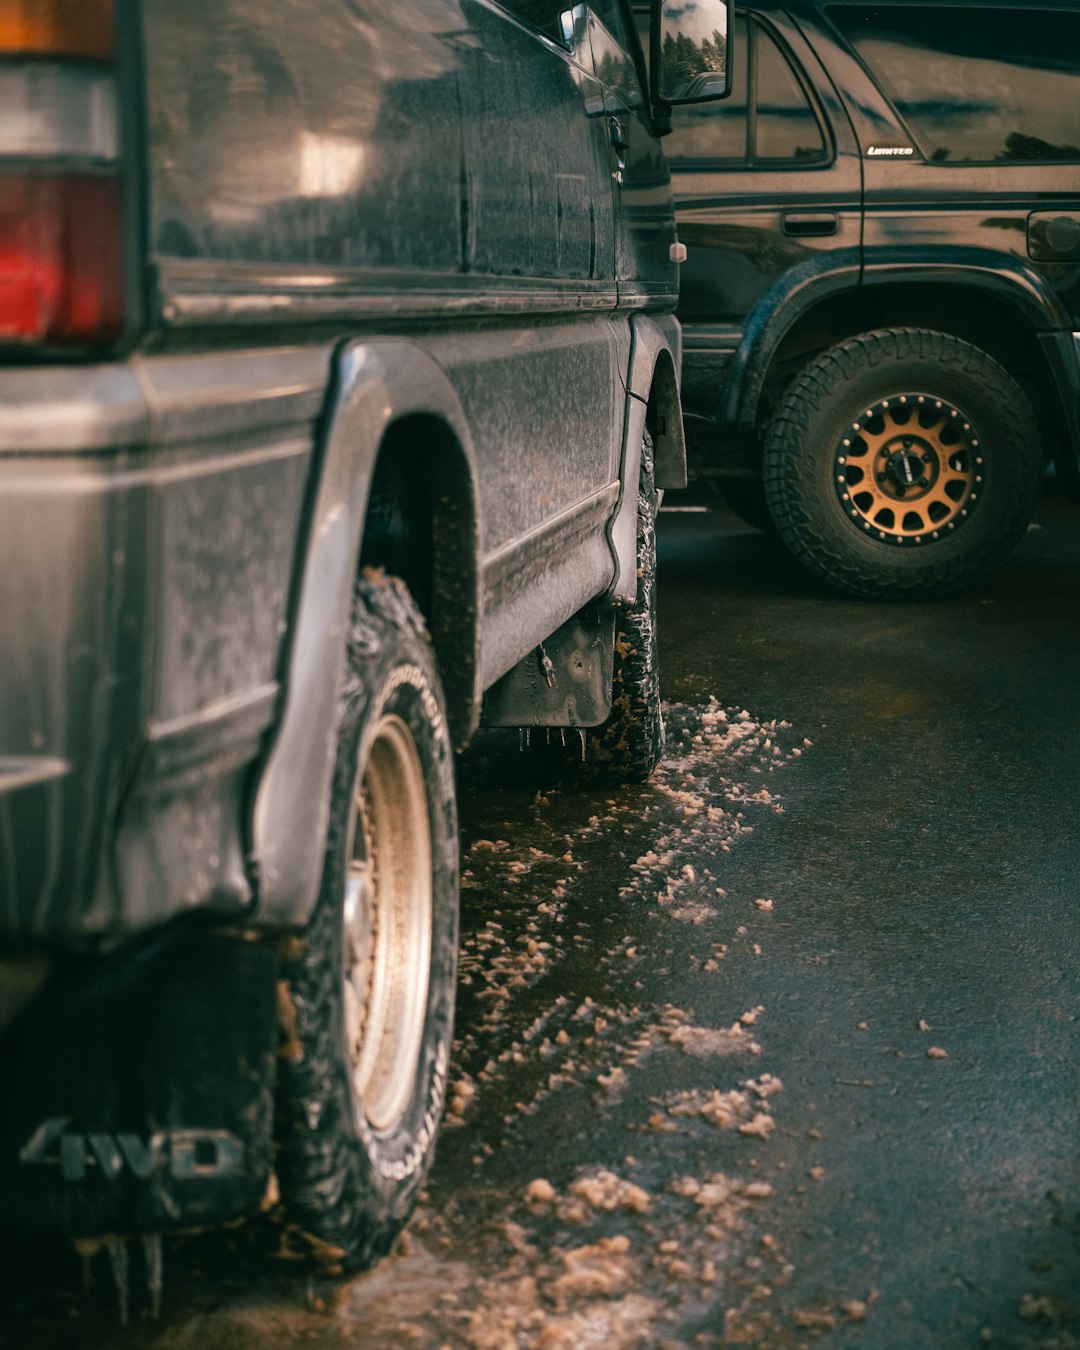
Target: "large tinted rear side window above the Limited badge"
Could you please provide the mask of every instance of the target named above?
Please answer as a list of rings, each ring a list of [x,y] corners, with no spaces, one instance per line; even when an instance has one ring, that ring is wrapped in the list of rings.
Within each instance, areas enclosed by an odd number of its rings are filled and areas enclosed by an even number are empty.
[[[929,159],[1080,159],[1080,11],[830,5]]]

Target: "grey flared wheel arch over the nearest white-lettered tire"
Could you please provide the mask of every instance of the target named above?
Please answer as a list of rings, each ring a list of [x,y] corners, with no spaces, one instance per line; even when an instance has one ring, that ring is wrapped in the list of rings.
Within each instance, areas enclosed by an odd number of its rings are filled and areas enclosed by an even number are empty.
[[[298,545],[281,683],[277,734],[252,786],[250,860],[256,882],[255,919],[270,926],[306,922],[315,906],[325,848],[333,772],[338,701],[352,590],[360,560],[386,566],[401,556],[378,524],[363,540],[377,473],[413,463],[433,474],[427,498],[405,498],[404,521],[439,531],[446,560],[413,567],[427,589],[425,618],[440,671],[448,675],[451,725],[467,734],[477,718],[477,491],[471,439],[460,402],[435,359],[408,340],[344,346],[335,356],[323,417],[306,531]],[[382,541],[379,543],[379,531]],[[397,548],[397,555],[393,549]],[[379,556],[382,555],[382,556]],[[451,576],[459,567],[460,575]],[[444,589],[459,606],[439,618]],[[424,602],[420,602],[421,608]],[[439,649],[441,643],[441,651]]]

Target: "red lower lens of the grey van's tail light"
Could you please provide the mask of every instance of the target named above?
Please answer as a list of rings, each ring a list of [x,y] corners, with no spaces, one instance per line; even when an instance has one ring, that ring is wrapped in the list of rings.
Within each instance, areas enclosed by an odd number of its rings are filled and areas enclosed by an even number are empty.
[[[0,174],[0,342],[117,338],[120,240],[115,176]]]

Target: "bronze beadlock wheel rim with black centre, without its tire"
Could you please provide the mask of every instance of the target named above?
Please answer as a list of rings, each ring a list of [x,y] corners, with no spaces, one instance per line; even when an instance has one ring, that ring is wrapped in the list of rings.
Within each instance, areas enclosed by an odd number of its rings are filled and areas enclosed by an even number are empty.
[[[927,544],[977,509],[984,478],[973,423],[930,394],[882,398],[836,450],[836,490],[852,524],[887,544]]]

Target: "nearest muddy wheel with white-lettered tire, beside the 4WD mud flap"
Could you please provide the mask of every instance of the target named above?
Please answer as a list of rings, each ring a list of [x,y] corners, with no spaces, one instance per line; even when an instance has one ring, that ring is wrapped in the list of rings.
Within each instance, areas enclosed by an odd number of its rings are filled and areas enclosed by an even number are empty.
[[[323,879],[285,964],[278,1181],[343,1269],[389,1250],[431,1166],[458,950],[443,695],[405,587],[358,583]]]

